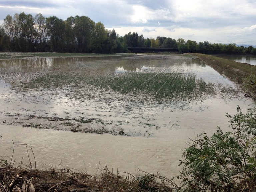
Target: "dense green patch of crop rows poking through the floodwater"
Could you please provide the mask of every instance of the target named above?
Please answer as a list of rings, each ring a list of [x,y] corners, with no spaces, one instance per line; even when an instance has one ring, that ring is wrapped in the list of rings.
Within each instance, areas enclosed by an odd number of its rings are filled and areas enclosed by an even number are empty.
[[[203,85],[203,86],[202,86]],[[125,93],[143,93],[157,100],[197,97],[207,91],[206,83],[192,73],[131,73],[96,84]]]

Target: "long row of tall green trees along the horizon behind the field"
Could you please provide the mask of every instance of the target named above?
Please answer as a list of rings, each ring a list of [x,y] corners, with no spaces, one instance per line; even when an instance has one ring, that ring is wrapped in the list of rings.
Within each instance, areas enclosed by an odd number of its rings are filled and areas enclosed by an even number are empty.
[[[87,16],[32,16],[24,12],[7,15],[0,25],[0,51],[124,53],[127,47],[178,48],[180,52],[206,54],[256,54],[252,46],[177,40],[170,37],[144,38],[136,32],[119,36],[101,22]]]

